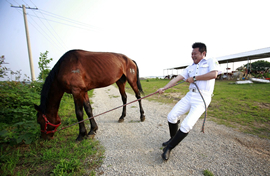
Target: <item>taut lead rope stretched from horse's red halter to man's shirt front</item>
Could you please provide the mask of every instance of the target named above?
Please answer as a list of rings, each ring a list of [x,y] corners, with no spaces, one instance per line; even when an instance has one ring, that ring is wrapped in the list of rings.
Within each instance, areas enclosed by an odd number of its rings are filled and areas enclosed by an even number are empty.
[[[185,82],[185,81],[179,82],[179,83],[174,84],[174,85],[172,85],[172,86],[170,86],[170,87],[168,87],[168,88],[165,88],[164,90],[170,89],[170,88],[172,88],[172,87],[174,87],[174,86],[177,86],[177,85],[179,85],[179,84],[182,84],[182,83],[184,83],[184,82]],[[114,111],[114,110],[116,110],[116,109],[118,109],[118,108],[127,106],[127,105],[129,105],[129,104],[131,104],[131,103],[134,103],[134,102],[136,102],[136,101],[139,101],[139,100],[142,100],[142,99],[144,99],[144,98],[153,96],[153,95],[155,95],[155,94],[157,94],[157,93],[158,93],[158,91],[156,91],[156,92],[154,92],[154,93],[151,93],[151,94],[149,94],[149,95],[146,95],[146,96],[144,96],[144,97],[142,97],[142,98],[139,98],[139,99],[137,99],[137,100],[131,101],[131,102],[127,103],[127,104],[123,104],[123,105],[118,106],[118,107],[116,107],[116,108],[113,108],[113,109],[111,109],[111,110],[105,111],[105,112],[100,113],[100,114],[98,114],[98,115],[95,115],[95,116],[89,117],[89,118],[87,118],[87,119],[81,120],[81,121],[79,121],[79,122],[77,122],[77,123],[74,123],[74,124],[72,124],[72,125],[63,127],[63,128],[61,128],[61,129],[59,129],[59,130],[57,130],[57,131],[61,131],[61,130],[66,129],[66,128],[68,128],[68,127],[71,127],[71,126],[74,126],[74,125],[76,125],[76,124],[82,123],[82,122],[84,122],[84,121],[86,121],[86,120],[90,120],[90,119],[93,119],[93,118],[95,118],[95,117],[101,116],[101,115],[103,115],[103,114],[106,114],[106,113],[111,112],[111,111]]]

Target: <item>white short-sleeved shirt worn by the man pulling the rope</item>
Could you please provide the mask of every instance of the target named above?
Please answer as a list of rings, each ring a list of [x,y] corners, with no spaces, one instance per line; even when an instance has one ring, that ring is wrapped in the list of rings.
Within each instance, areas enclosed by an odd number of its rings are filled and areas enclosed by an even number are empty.
[[[214,70],[219,71],[220,73],[218,61],[213,58],[203,58],[198,64],[193,63],[192,65],[188,66],[180,75],[187,79],[189,77],[203,75]],[[196,84],[201,91],[212,94],[214,91],[215,79],[198,80],[196,81]],[[190,84],[189,89],[197,88],[194,84]]]

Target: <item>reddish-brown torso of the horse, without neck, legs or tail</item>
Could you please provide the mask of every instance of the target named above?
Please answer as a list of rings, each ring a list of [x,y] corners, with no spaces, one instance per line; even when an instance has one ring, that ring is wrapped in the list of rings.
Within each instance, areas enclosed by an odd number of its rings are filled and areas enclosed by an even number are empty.
[[[58,79],[67,89],[106,87],[136,70],[132,60],[117,53],[71,50],[61,59]]]

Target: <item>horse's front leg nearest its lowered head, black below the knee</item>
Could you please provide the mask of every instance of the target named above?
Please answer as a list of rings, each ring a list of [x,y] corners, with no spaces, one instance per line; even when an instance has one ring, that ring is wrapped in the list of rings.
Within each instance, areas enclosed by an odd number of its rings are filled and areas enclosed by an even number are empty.
[[[78,122],[83,120],[83,98],[80,96],[75,96],[74,97],[74,103],[75,103],[75,113]],[[87,137],[87,131],[85,129],[84,122],[79,123],[79,135],[76,139],[76,141],[81,141],[84,139],[84,137]]]

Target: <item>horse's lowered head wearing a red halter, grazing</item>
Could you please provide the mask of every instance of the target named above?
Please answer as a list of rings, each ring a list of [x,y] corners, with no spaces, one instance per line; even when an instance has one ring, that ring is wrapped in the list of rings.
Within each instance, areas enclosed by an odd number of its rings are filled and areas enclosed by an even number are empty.
[[[35,109],[38,111],[37,122],[40,124],[41,137],[43,139],[52,139],[57,127],[61,124],[59,116],[46,116],[37,105],[35,105]]]

